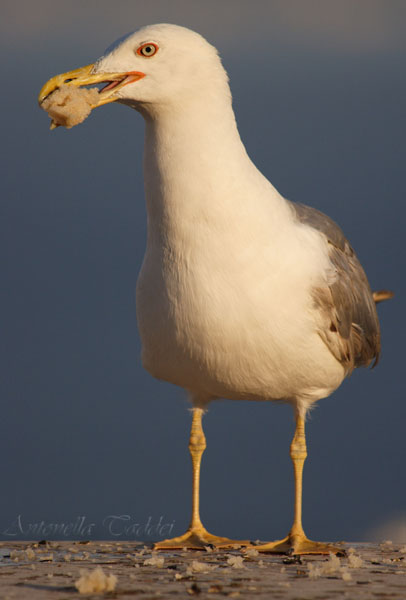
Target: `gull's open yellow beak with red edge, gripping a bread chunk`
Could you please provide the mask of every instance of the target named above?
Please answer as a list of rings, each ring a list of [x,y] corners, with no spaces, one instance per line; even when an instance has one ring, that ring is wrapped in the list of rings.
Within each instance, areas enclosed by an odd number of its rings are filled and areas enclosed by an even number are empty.
[[[118,90],[129,83],[133,83],[134,81],[138,81],[139,79],[142,79],[142,77],[145,77],[145,74],[140,71],[127,71],[125,73],[93,73],[93,69],[94,64],[91,64],[80,67],[79,69],[74,69],[73,71],[68,71],[67,73],[55,75],[55,77],[52,77],[42,87],[38,96],[39,105],[41,106],[45,98],[61,85],[80,87],[83,85],[106,83],[107,85],[100,90],[99,100],[92,106],[93,109],[97,106],[103,106],[103,104],[118,100]],[[57,126],[58,125],[53,124],[51,125],[51,129],[54,129]]]

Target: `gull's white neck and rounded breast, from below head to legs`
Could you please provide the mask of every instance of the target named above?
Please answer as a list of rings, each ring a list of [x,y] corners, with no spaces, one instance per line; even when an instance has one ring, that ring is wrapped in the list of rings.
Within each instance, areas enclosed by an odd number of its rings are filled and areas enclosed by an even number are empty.
[[[207,398],[325,397],[344,371],[315,327],[323,239],[251,163],[231,108],[220,132],[202,111],[197,130],[187,115],[147,123],[144,366]]]

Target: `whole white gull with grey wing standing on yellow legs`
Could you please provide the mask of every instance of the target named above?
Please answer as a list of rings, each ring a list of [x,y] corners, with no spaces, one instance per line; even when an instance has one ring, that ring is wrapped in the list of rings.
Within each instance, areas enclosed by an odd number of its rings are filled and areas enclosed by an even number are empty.
[[[391,293],[374,298],[340,227],[285,199],[250,160],[226,71],[201,35],[171,24],[144,27],[95,63],[50,79],[39,102],[62,86],[100,83],[92,108],[119,102],[146,126],[147,244],[136,292],[142,362],[184,388],[193,405],[191,522],[184,535],[155,547],[249,544],[209,533],[200,519],[202,416],[225,398],[284,401],[294,410],[293,525],[283,540],[257,550],[338,552],[310,540],[302,526],[306,414],[355,367],[376,364],[375,301]]]

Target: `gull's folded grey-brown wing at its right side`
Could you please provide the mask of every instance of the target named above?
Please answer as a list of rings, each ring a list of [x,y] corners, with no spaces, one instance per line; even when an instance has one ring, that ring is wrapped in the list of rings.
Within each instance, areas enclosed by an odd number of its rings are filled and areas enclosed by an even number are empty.
[[[378,361],[381,349],[378,315],[367,276],[340,227],[327,215],[289,202],[296,219],[325,236],[337,278],[317,287],[313,298],[321,316],[319,335],[350,374],[354,367]]]

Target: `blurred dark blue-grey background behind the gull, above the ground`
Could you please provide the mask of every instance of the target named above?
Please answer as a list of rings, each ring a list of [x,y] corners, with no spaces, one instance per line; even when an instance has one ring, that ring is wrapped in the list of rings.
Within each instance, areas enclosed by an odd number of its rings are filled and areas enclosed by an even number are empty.
[[[321,540],[406,538],[402,0],[3,0],[0,537],[63,537],[52,524],[80,517],[93,526],[78,538],[110,537],[110,515],[162,517],[173,534],[189,521],[189,405],[140,364],[143,120],[113,104],[50,132],[36,104],[50,76],[156,22],[219,49],[254,162],[342,226],[373,289],[396,292],[379,307],[378,367],[311,415],[304,525]],[[207,528],[285,535],[291,409],[219,401],[204,426]],[[158,529],[114,531],[157,539]]]

